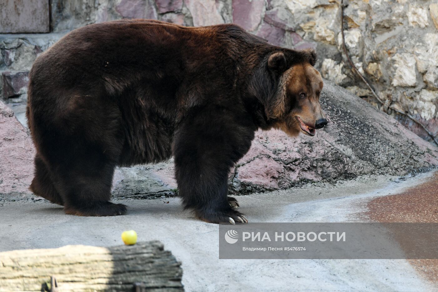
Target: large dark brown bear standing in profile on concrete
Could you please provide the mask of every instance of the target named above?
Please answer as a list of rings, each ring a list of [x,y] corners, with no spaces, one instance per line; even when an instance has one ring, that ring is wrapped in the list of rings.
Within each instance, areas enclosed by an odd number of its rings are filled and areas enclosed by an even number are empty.
[[[227,196],[257,129],[291,136],[327,124],[314,50],[272,46],[237,25],[120,20],[78,28],[30,71],[31,190],[66,214],[112,216],[114,168],[174,157],[196,217],[247,222]]]

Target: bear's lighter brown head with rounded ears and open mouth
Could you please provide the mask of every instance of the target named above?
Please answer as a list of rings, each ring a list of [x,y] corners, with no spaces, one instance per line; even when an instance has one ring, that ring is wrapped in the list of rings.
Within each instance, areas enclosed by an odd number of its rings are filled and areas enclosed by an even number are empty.
[[[265,62],[261,67],[265,67],[268,82],[258,86],[264,88],[261,101],[268,128],[279,128],[290,136],[300,132],[314,136],[316,129],[327,125],[319,103],[323,82],[313,67],[315,51],[272,52]]]

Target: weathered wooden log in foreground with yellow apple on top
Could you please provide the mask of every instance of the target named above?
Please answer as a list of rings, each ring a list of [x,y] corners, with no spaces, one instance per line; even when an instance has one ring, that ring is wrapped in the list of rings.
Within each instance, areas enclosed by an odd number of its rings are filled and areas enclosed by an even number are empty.
[[[59,292],[184,291],[181,263],[159,241],[0,253],[0,292],[45,291],[51,276]]]

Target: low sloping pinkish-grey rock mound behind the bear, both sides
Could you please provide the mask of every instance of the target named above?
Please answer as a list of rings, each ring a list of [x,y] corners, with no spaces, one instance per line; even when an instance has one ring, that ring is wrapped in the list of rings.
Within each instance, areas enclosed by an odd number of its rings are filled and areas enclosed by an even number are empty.
[[[244,195],[287,189],[307,182],[335,182],[363,174],[406,175],[438,165],[438,148],[376,110],[346,89],[325,81],[321,105],[329,125],[317,135],[288,137],[257,132],[249,152],[230,173],[230,193]],[[0,199],[28,195],[34,151],[28,132],[1,105]],[[3,163],[6,161],[6,163]],[[173,161],[122,167],[113,179],[113,196],[175,196]]]

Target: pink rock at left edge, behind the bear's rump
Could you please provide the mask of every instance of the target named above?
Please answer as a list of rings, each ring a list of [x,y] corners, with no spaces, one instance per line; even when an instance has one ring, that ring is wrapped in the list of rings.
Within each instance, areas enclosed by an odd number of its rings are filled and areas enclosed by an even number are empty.
[[[0,101],[0,198],[31,193],[34,153],[27,129]]]

